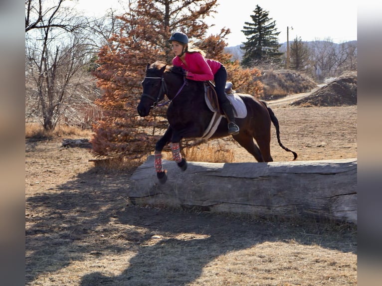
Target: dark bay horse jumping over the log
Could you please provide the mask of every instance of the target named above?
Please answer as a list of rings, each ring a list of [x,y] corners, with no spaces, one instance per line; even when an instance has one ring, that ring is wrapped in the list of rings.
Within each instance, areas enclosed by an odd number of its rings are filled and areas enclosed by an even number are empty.
[[[187,80],[185,71],[181,67],[166,66],[166,63],[159,61],[148,64],[142,86],[143,94],[137,108],[141,117],[148,116],[151,108],[158,106],[165,95],[169,98],[170,105],[167,110],[169,127],[155,146],[157,176],[160,182],[165,182],[167,173],[162,169],[162,150],[165,145],[171,143],[174,160],[182,170],[186,170],[187,162],[180,155],[179,143],[182,138],[201,138],[213,113],[204,100],[203,82]],[[284,147],[280,142],[279,123],[273,111],[264,101],[257,100],[251,95],[239,94],[239,96],[246,105],[247,116],[236,119],[240,132],[233,135],[233,139],[251,153],[258,162],[271,162],[273,161],[270,153],[272,122],[276,128],[279,145],[284,150],[292,152],[293,160],[295,160],[297,153]],[[225,136],[228,136],[228,130],[227,120],[224,117],[210,138]]]

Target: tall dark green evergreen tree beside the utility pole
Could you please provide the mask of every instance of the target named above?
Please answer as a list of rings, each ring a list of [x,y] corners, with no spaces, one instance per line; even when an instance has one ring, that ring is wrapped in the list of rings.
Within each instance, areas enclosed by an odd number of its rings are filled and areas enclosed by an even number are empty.
[[[245,22],[241,30],[247,41],[241,49],[245,50],[241,64],[244,67],[265,66],[280,62],[276,21],[269,18],[269,12],[256,5],[251,15],[253,22]]]

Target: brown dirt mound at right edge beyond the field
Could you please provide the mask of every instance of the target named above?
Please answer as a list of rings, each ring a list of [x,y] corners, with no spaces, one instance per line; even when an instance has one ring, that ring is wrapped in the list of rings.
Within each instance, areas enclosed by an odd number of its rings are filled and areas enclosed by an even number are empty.
[[[357,105],[357,73],[344,74],[290,105],[305,107]]]

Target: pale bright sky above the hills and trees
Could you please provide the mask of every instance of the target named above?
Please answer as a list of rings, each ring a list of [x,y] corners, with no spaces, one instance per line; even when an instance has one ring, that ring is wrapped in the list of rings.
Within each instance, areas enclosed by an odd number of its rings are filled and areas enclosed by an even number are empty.
[[[103,15],[110,7],[121,6],[120,0],[94,1],[78,0],[77,8],[89,15]],[[96,3],[95,3],[96,2]],[[127,3],[128,0],[122,1]],[[357,40],[357,0],[217,0],[217,13],[206,19],[214,26],[207,35],[216,34],[221,28],[229,28],[228,46],[239,45],[246,41],[241,32],[244,22],[252,22],[251,15],[258,4],[269,12],[268,17],[276,21],[279,42],[296,37],[303,41],[325,40],[335,43]]]

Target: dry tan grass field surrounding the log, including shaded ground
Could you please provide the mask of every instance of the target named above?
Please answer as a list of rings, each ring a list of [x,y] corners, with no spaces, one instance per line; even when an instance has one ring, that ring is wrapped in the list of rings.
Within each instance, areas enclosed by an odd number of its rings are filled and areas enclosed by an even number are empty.
[[[298,160],[357,157],[357,106],[270,106]],[[357,285],[354,225],[136,207],[132,170],[94,167],[61,142],[25,143],[26,285]],[[292,159],[275,138],[271,151]]]

